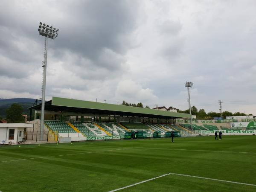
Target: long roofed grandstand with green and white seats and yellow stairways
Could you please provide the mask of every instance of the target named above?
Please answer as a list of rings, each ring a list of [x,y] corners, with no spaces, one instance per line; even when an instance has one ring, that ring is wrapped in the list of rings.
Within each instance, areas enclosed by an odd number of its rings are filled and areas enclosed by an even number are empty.
[[[35,110],[35,120],[39,119],[41,103],[29,110],[30,118]],[[154,132],[165,137],[168,131],[180,132],[181,136],[192,134],[189,128],[175,125],[177,118],[191,118],[186,113],[52,97],[45,103],[45,114],[44,132],[47,138],[50,135],[56,140],[122,139],[131,131],[144,131],[147,137],[153,137]]]

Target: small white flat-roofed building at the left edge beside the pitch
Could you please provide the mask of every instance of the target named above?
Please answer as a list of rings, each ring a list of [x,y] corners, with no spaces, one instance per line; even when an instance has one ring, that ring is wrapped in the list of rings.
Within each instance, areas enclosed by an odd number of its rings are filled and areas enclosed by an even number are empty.
[[[33,128],[33,124],[27,123],[0,123],[0,141],[17,144],[23,141],[27,128]]]

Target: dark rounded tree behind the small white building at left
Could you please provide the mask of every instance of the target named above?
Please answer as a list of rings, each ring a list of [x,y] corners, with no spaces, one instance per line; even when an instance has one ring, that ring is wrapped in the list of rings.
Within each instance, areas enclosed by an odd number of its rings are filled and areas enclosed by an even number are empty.
[[[10,123],[24,122],[22,111],[22,106],[17,103],[13,103],[8,109],[6,109],[6,120]]]

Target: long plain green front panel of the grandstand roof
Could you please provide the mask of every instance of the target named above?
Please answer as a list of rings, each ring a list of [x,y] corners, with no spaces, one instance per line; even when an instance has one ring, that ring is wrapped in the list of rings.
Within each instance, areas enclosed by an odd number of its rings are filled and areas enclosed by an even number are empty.
[[[52,105],[53,106],[61,106],[67,108],[84,108],[91,110],[99,110],[99,111],[111,111],[111,112],[123,112],[130,114],[142,114],[150,115],[150,116],[161,116],[166,118],[191,118],[190,114],[187,113],[175,113],[170,111],[160,111],[155,109],[146,109],[146,108],[138,108],[131,107],[125,105],[114,105],[108,103],[100,103],[100,102],[90,102],[90,101],[82,101],[77,99],[67,99],[61,97],[52,97]]]

